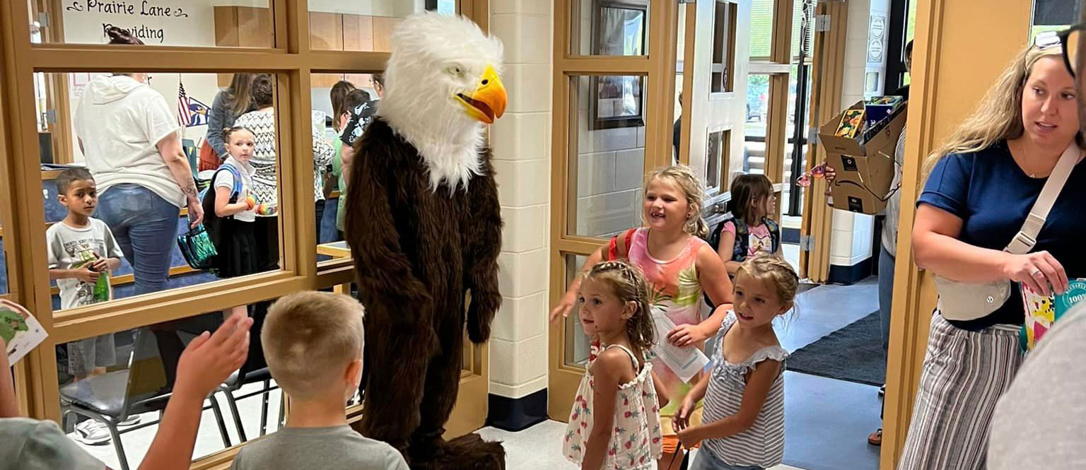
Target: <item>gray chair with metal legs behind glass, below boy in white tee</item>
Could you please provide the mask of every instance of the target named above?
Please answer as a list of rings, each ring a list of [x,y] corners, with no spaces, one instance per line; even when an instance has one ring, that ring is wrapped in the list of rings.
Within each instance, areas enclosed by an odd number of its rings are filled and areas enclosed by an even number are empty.
[[[60,390],[61,402],[65,406],[65,417],[75,414],[99,421],[109,428],[121,470],[129,470],[121,434],[159,423],[172,395],[154,334],[148,328],[136,331],[136,346],[129,364],[128,369],[90,377],[64,385]],[[211,405],[203,409],[210,407],[215,414],[223,445],[230,447],[226,422],[223,420],[223,412],[218,408],[214,393],[207,398]],[[129,416],[150,411],[157,411],[159,419],[124,430],[117,429],[117,423]]]

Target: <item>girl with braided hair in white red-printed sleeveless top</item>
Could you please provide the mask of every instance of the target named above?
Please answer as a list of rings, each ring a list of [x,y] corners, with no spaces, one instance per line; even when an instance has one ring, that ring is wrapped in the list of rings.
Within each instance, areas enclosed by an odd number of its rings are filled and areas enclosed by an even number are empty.
[[[655,470],[666,398],[645,360],[654,343],[645,279],[626,263],[599,263],[584,276],[578,302],[584,334],[603,350],[577,389],[563,453],[582,470]]]

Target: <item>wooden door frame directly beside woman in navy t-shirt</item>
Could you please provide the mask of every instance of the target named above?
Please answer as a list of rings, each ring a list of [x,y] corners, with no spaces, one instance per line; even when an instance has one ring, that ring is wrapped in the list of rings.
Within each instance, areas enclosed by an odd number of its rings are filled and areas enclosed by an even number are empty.
[[[885,420],[880,468],[893,470],[904,452],[913,398],[926,352],[936,293],[934,277],[912,263],[912,221],[925,176],[923,164],[976,105],[1011,58],[1030,39],[1032,3],[932,0],[917,7],[901,213],[894,270]],[[965,38],[989,35],[985,48]],[[967,78],[968,76],[968,78]]]

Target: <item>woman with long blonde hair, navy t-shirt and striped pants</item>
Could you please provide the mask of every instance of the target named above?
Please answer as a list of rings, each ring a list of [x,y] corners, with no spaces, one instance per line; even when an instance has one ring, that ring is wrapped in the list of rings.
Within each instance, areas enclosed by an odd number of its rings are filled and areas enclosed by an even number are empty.
[[[1086,276],[1086,166],[1076,164],[1033,252],[1003,250],[1064,151],[1082,154],[1074,78],[1059,38],[1038,36],[1003,71],[972,116],[929,158],[912,246],[917,265],[958,282],[1011,281],[994,312],[936,309],[898,469],[982,469],[999,396],[1022,361],[1019,282],[1048,294]],[[989,301],[990,302],[990,301]],[[951,319],[959,318],[959,319]]]

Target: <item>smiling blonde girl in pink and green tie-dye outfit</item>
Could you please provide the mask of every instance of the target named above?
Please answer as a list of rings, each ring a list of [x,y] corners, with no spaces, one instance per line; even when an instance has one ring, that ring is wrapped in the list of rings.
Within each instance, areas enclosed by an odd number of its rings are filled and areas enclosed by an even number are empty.
[[[702,218],[705,188],[691,167],[675,165],[649,173],[643,193],[642,219],[646,227],[630,229],[613,238],[589,256],[583,270],[586,272],[603,259],[628,258],[644,272],[652,308],[662,310],[675,325],[666,335],[657,338],[657,344],[666,341],[700,354],[705,340],[717,332],[732,308],[732,283],[724,263],[702,239],[708,232],[708,225]],[[551,312],[551,321],[569,315],[580,288],[580,278],[574,279],[561,302]],[[717,305],[712,315],[704,320],[700,316],[703,291]],[[653,370],[668,396],[672,402],[681,401],[691,385],[657,357],[655,351],[651,356]],[[675,455],[679,440],[670,419],[674,411],[674,405],[660,410],[661,470],[679,468],[682,462],[681,456]],[[691,419],[699,421],[700,408]]]

